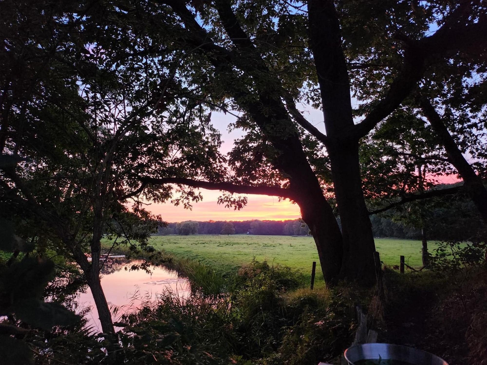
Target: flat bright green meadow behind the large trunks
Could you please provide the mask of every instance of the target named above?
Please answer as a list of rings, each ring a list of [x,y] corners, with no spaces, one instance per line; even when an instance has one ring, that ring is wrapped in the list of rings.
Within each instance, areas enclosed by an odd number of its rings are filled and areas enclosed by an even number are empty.
[[[291,236],[153,236],[152,244],[179,257],[187,257],[211,265],[222,272],[235,271],[257,260],[267,260],[311,273],[313,261],[318,262],[313,237]],[[430,249],[434,243],[430,243]],[[421,241],[376,238],[376,250],[388,265],[399,265],[399,256],[406,256],[410,266],[421,266]],[[319,267],[319,266],[318,266]],[[321,275],[317,275],[317,278]]]

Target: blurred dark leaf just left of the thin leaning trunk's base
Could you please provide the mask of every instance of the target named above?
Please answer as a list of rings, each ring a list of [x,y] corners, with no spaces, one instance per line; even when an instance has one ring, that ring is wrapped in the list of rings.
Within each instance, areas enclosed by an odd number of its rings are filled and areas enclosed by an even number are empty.
[[[13,311],[23,322],[46,330],[51,330],[54,326],[69,326],[79,321],[79,316],[62,305],[38,299],[16,303]]]

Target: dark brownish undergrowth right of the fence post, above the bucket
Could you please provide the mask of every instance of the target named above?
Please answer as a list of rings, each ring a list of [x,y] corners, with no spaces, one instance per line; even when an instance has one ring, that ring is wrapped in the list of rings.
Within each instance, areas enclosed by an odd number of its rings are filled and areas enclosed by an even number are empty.
[[[386,272],[383,341],[417,347],[450,364],[487,364],[487,267],[444,262],[422,273]]]

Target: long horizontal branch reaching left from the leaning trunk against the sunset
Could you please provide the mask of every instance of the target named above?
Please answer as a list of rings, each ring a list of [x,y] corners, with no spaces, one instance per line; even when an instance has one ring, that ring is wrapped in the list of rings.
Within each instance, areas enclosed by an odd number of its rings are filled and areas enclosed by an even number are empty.
[[[211,183],[202,180],[192,180],[185,178],[150,178],[140,177],[139,180],[144,184],[162,185],[162,184],[181,184],[196,188],[203,188],[208,190],[225,190],[237,194],[261,194],[270,195],[282,198],[296,199],[297,194],[292,189],[283,189],[277,186],[250,186],[237,185],[233,183]]]

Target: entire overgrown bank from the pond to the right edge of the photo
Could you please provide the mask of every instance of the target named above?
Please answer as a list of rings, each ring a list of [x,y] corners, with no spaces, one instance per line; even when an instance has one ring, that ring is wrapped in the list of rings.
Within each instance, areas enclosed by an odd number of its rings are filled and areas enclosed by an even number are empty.
[[[379,329],[379,341],[461,360],[452,364],[467,363],[486,344],[480,325],[487,318],[482,309],[485,283],[476,278],[487,276],[480,269],[468,276],[461,290],[458,273],[449,267],[407,274],[385,269],[385,301],[379,305],[375,287],[340,283],[310,291],[300,270],[275,261],[250,260],[239,270],[223,273],[221,267],[184,256],[160,251],[151,255],[154,262],[187,277],[194,290],[184,300],[163,292],[156,302],[141,303],[142,310],[120,318],[123,323],[117,325],[123,330],[117,334],[124,347],[117,351],[127,363],[338,364],[353,341],[356,303],[363,306],[372,328]],[[462,309],[463,298],[467,305],[474,304],[468,312]],[[471,343],[475,348],[469,348]],[[96,346],[103,347],[92,341],[83,356],[97,360]]]

